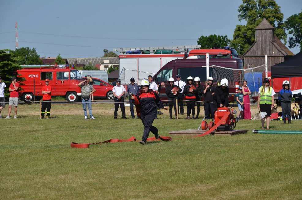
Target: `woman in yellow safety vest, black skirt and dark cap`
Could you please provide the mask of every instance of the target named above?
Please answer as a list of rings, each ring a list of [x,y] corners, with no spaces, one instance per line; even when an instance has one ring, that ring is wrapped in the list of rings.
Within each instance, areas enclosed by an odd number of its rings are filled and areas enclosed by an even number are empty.
[[[276,92],[270,87],[268,78],[263,79],[264,85],[258,90],[258,109],[260,112],[266,112],[266,129],[270,126],[270,116],[272,115],[272,108],[274,108],[274,95]],[[264,117],[261,119],[262,129],[264,129]]]

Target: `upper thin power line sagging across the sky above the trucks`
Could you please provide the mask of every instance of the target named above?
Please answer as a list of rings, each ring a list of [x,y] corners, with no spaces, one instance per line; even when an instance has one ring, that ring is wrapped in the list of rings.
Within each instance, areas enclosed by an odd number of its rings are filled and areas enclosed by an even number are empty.
[[[58,34],[50,34],[50,33],[37,33],[37,32],[26,32],[26,31],[19,31],[21,33],[29,33],[29,34],[36,34],[36,35],[47,35],[47,36],[61,36],[61,37],[74,37],[74,38],[89,38],[89,39],[99,39],[99,40],[196,40],[194,39],[138,39],[138,38],[112,38],[112,37],[90,37],[90,36],[72,36],[72,35],[58,35]]]

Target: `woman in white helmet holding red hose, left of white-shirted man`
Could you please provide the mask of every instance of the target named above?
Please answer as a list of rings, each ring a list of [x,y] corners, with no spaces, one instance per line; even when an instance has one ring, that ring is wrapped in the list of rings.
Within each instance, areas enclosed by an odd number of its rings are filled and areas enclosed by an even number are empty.
[[[174,78],[169,78],[168,80],[169,84],[166,87],[166,94],[169,100],[169,113],[170,113],[170,119],[172,119],[172,112],[173,112],[173,107],[174,107],[174,113],[175,113],[175,119],[177,119],[176,116],[176,99],[178,97],[179,92],[181,89],[174,84]],[[178,88],[178,91],[174,91],[174,88]]]

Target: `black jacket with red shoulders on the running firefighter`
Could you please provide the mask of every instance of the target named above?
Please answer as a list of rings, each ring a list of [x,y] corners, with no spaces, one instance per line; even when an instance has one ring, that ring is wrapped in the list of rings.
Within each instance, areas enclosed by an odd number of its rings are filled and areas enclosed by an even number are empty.
[[[157,107],[164,108],[164,105],[161,103],[159,96],[153,90],[149,89],[147,93],[139,92],[136,97],[141,104],[141,112],[145,114],[154,111],[156,112]]]

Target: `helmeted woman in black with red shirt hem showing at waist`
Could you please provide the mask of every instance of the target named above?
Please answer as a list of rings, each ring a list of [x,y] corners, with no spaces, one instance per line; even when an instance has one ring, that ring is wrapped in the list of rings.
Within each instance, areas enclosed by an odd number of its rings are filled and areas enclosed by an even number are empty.
[[[190,115],[192,112],[192,119],[195,119],[195,101],[196,101],[196,88],[193,89],[193,77],[189,76],[187,78],[187,85],[183,88],[185,93],[185,99],[187,100],[187,117],[185,119],[191,119]]]

